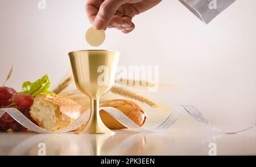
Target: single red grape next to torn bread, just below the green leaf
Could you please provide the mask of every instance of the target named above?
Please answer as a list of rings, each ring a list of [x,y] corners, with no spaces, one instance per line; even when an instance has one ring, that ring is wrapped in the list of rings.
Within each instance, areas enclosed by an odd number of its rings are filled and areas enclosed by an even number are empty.
[[[27,94],[17,94],[15,104],[18,108],[30,108],[33,104],[34,97]]]

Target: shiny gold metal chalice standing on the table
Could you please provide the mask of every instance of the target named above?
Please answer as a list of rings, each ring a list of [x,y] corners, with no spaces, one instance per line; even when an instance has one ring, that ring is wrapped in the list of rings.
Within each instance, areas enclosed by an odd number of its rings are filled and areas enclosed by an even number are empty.
[[[79,50],[69,53],[76,86],[90,97],[90,118],[79,134],[114,133],[100,117],[99,99],[115,82],[120,53],[111,50]]]

